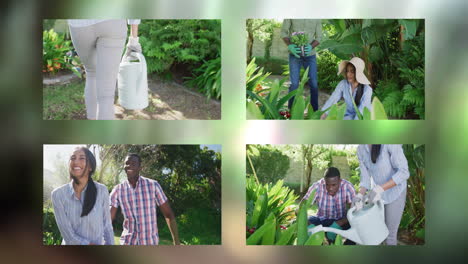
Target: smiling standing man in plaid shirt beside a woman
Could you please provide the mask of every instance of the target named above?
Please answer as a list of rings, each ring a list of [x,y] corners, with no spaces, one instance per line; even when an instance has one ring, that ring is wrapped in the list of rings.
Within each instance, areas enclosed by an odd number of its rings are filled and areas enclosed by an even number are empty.
[[[140,156],[127,155],[124,170],[128,180],[115,186],[110,194],[112,221],[119,206],[125,219],[120,244],[157,245],[159,235],[156,207],[159,207],[166,219],[174,245],[179,245],[177,224],[171,206],[157,181],[140,176]]]

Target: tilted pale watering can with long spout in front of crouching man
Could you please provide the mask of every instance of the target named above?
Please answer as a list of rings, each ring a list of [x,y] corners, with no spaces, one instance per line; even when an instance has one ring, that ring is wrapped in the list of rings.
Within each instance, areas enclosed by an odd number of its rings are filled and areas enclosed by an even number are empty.
[[[361,210],[356,211],[356,207],[349,209],[347,218],[351,228],[348,230],[319,225],[311,228],[309,232],[312,234],[319,231],[333,232],[360,245],[379,245],[388,236],[384,214],[382,200],[378,200],[375,203],[364,205]]]

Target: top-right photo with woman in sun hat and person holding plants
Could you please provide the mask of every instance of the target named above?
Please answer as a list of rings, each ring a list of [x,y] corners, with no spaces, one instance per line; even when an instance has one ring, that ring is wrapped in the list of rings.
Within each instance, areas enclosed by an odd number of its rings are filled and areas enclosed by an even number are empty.
[[[247,119],[425,119],[424,19],[248,19]]]

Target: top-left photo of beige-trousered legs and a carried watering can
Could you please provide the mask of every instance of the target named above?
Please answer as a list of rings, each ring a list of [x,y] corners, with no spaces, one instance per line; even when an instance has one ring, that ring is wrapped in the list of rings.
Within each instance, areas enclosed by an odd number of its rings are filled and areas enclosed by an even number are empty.
[[[221,119],[221,20],[44,19],[44,120]]]

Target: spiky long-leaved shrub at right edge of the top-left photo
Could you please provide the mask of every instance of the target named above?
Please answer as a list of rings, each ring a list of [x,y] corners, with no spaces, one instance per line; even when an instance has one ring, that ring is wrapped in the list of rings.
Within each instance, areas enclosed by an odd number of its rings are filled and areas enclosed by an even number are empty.
[[[221,58],[205,61],[200,68],[193,72],[193,77],[187,81],[191,87],[197,87],[198,91],[209,99],[221,99]]]

